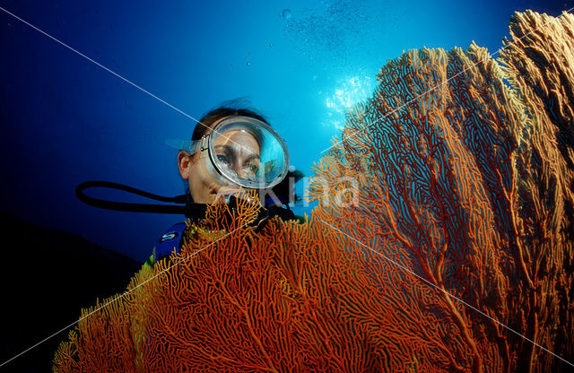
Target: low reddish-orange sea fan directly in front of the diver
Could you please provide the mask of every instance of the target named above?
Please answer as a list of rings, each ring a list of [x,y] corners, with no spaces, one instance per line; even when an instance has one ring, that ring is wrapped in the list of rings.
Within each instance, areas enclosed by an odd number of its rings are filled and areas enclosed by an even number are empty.
[[[72,332],[55,370],[377,370],[376,343],[346,310],[374,282],[341,250],[342,239],[312,222],[274,220],[255,233],[238,224],[254,211],[222,220],[226,206],[214,205],[204,229],[217,226],[220,238],[189,237],[180,256],[140,273],[119,306]],[[370,313],[384,310],[374,305]]]

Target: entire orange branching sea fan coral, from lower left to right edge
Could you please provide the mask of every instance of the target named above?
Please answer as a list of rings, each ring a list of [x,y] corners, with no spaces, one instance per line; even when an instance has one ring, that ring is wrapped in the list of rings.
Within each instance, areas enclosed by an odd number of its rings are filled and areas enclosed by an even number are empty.
[[[510,31],[498,61],[388,62],[317,163],[308,221],[256,232],[252,204],[213,204],[83,310],[54,371],[574,368],[574,16]]]

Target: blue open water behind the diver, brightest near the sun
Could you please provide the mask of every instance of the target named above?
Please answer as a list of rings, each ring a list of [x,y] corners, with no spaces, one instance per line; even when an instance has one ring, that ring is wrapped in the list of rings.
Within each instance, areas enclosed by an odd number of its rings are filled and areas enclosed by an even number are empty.
[[[182,194],[176,151],[165,139],[188,138],[196,124],[190,117],[239,98],[268,118],[290,147],[291,164],[310,176],[344,110],[370,94],[388,59],[473,40],[494,52],[514,11],[557,16],[572,2],[0,6],[150,93],[0,11],[0,209],[143,262],[161,231],[182,219],[91,207],[75,198],[75,186],[103,179]]]

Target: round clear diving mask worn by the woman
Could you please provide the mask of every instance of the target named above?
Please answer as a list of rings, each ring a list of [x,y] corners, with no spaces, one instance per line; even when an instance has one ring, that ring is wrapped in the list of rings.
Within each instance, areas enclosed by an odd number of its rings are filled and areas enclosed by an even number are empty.
[[[219,178],[233,184],[265,189],[280,183],[289,169],[289,152],[271,126],[252,117],[227,117],[209,134],[192,141],[190,153]]]

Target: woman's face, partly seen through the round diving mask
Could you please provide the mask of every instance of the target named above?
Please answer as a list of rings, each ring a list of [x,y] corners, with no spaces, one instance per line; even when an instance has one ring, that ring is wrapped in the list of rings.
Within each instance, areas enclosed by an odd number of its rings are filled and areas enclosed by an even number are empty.
[[[217,120],[210,127],[213,128],[223,119],[225,118]],[[260,148],[253,134],[239,129],[227,131],[215,139],[213,151],[214,158],[228,175],[255,178],[259,168]],[[211,161],[207,151],[193,155],[179,152],[178,162],[181,177],[187,179],[189,191],[197,204],[211,204],[219,195],[230,195],[239,191],[239,186],[210,169]]]

